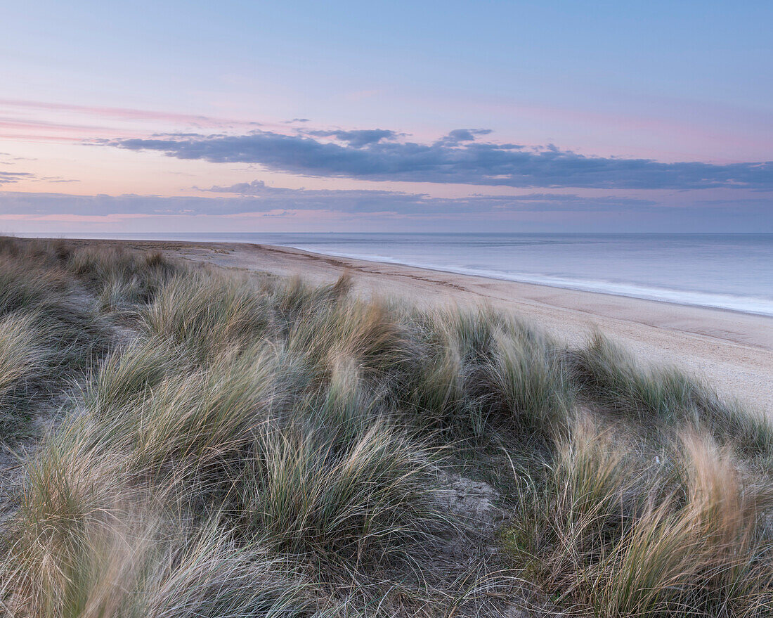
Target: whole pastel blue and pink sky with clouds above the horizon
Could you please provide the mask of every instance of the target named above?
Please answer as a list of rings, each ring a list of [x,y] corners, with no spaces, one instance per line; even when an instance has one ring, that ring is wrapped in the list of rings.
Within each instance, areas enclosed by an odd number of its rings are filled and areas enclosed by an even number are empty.
[[[773,232],[773,2],[53,2],[0,232]]]

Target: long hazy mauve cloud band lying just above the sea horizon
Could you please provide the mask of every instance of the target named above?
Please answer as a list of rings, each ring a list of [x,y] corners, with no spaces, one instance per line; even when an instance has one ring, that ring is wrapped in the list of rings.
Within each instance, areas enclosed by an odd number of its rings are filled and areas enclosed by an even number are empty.
[[[338,226],[351,224],[357,230],[773,231],[773,195],[767,200],[703,203],[685,200],[686,193],[679,193],[681,203],[552,192],[444,198],[367,189],[288,189],[259,180],[213,186],[206,193],[78,196],[0,191],[0,224],[17,230],[46,225],[76,226],[73,230],[77,230],[87,224],[117,225],[116,230],[125,230],[124,222],[131,220],[133,229],[145,231],[164,227],[244,231],[264,229],[259,224],[249,227],[253,225],[246,223],[250,220],[290,217],[287,225],[294,230],[309,226],[328,230],[331,225],[340,229]]]

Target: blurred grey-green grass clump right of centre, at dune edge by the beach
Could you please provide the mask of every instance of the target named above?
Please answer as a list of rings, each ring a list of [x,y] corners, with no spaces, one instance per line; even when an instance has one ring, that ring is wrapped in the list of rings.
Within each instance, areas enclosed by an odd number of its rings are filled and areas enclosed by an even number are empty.
[[[418,320],[421,354],[407,386],[415,413],[456,439],[505,428],[543,440],[564,423],[572,388],[557,344],[492,310]]]

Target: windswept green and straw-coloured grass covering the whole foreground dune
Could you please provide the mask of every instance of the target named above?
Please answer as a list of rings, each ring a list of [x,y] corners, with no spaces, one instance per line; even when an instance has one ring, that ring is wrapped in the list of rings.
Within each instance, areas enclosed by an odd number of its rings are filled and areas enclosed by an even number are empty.
[[[2,240],[5,613],[771,615],[768,422],[349,287]]]

